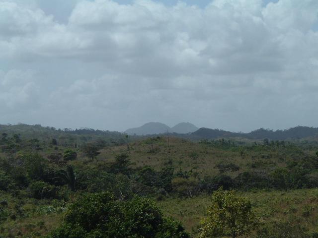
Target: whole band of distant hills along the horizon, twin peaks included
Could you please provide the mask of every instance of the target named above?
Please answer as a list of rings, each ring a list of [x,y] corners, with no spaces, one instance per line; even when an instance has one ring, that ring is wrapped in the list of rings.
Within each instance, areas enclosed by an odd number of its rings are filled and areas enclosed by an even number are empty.
[[[296,126],[285,130],[270,130],[260,128],[248,133],[237,133],[222,129],[199,128],[189,122],[181,122],[170,128],[169,126],[159,122],[149,122],[143,126],[126,130],[130,135],[155,135],[169,133],[177,133],[174,136],[185,139],[201,140],[201,139],[217,139],[217,138],[246,138],[250,140],[288,140],[288,139],[308,139],[318,141],[318,128],[309,126]],[[193,132],[191,132],[193,131]],[[123,133],[108,130],[95,130],[91,128],[80,129],[56,129],[49,126],[27,125],[18,123],[0,124],[0,135],[7,133],[9,136],[19,134],[22,137],[38,138],[46,140],[48,138],[66,138],[72,137],[74,143],[78,145],[90,140],[103,139],[107,143],[123,143],[127,140]],[[133,139],[133,137],[131,137]]]

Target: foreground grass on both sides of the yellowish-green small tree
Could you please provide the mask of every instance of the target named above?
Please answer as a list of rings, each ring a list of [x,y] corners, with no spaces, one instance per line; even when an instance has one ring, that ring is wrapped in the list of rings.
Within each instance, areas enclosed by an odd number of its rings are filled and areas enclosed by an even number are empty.
[[[266,225],[274,221],[290,221],[301,224],[309,231],[318,227],[318,189],[289,191],[239,192],[248,197],[254,211]],[[193,233],[200,225],[211,204],[211,195],[192,198],[171,198],[157,201],[163,213],[180,221],[185,229]]]

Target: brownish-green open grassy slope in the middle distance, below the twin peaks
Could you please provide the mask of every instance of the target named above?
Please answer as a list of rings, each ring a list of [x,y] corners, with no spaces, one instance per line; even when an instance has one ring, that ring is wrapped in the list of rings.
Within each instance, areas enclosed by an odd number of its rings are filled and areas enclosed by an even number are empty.
[[[116,155],[128,153],[133,168],[149,166],[159,170],[171,161],[175,170],[192,170],[199,177],[216,175],[219,173],[217,165],[233,163],[239,167],[239,170],[229,171],[227,175],[235,177],[242,171],[268,171],[273,167],[284,167],[291,159],[300,159],[315,153],[314,150],[301,150],[294,145],[266,147],[258,142],[255,146],[251,141],[249,144],[240,146],[236,142],[233,146],[233,144],[228,145],[226,141],[224,145],[218,146],[172,137],[169,138],[167,146],[166,137],[154,137],[129,143],[128,146],[103,149],[98,160],[113,161]]]

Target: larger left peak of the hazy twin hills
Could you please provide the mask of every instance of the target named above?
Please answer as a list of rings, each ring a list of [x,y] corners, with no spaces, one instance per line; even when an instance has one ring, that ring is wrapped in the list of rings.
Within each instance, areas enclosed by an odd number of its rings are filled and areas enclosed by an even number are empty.
[[[160,122],[148,122],[140,127],[131,128],[126,130],[127,134],[136,135],[153,135],[172,132],[171,128]]]

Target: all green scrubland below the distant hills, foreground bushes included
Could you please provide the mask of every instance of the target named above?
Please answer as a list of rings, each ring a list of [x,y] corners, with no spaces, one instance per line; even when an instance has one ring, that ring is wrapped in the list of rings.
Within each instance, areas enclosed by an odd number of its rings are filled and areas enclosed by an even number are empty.
[[[318,238],[317,141],[0,125],[0,237]]]

